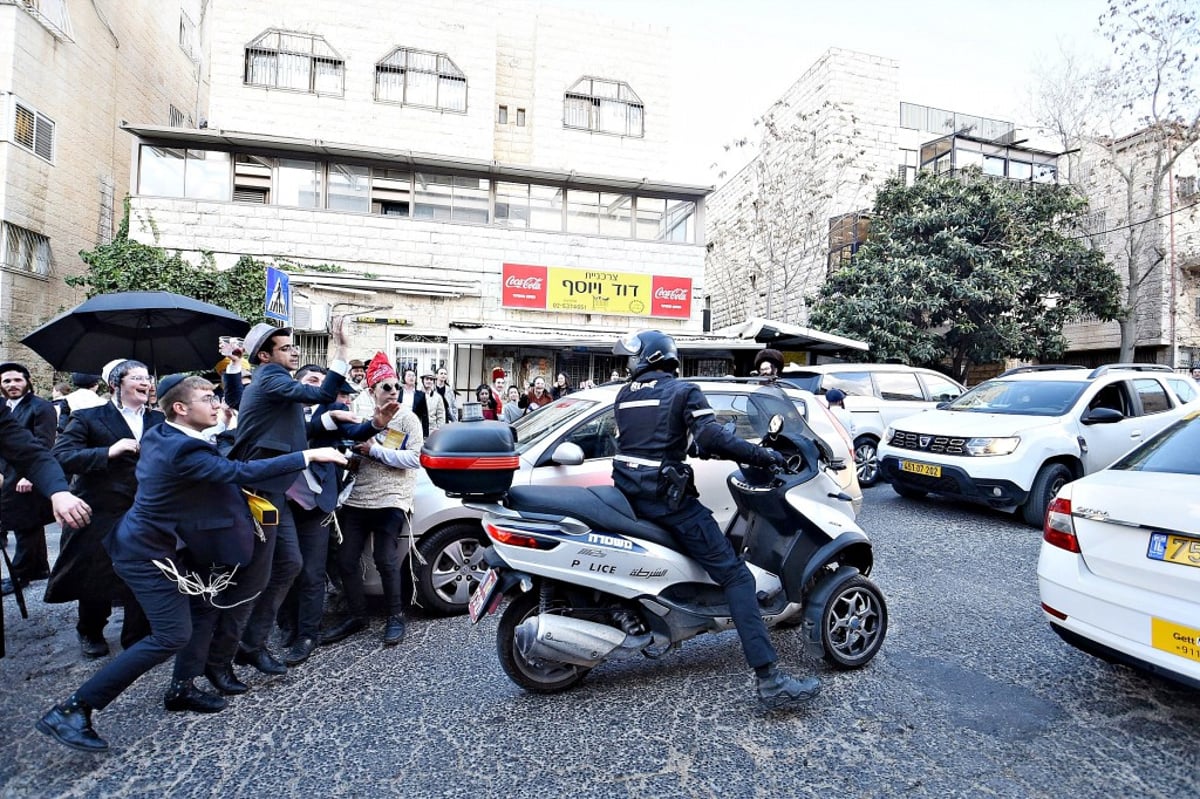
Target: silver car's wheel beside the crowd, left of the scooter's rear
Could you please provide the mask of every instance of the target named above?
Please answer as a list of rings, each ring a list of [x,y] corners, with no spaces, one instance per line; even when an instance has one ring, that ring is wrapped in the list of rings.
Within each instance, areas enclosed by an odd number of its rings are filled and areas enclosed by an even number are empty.
[[[478,522],[451,524],[427,533],[416,543],[425,559],[416,569],[421,607],[444,615],[461,615],[475,585],[487,573],[484,529]]]

